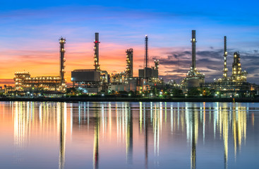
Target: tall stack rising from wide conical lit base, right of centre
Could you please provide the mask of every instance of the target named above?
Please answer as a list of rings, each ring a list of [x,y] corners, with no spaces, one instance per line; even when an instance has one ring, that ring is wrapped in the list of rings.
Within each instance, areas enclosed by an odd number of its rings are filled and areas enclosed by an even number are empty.
[[[186,78],[183,80],[182,85],[184,88],[200,87],[204,83],[205,75],[198,72],[196,69],[196,36],[195,30],[192,30],[192,62],[191,69],[188,71]]]

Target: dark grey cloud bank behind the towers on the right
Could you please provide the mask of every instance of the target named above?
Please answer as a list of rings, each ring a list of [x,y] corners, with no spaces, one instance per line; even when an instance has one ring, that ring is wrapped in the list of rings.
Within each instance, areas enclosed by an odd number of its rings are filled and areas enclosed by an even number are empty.
[[[229,49],[227,56],[227,65],[229,68],[228,75],[231,76],[231,63],[233,62],[233,49]],[[222,69],[224,68],[224,51],[222,49],[203,50],[196,52],[196,68],[200,73],[205,73],[205,81],[212,82],[214,78],[222,77]],[[258,83],[259,72],[259,54],[256,51],[242,51],[241,66],[242,70],[249,73],[248,82]],[[159,76],[164,80],[179,80],[186,77],[191,66],[191,51],[171,51],[164,56],[155,56],[153,59],[159,59]]]

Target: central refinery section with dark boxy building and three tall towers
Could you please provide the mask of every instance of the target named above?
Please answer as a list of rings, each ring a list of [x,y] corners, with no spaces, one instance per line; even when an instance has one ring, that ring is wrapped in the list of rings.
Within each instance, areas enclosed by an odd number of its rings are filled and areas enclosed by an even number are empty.
[[[148,68],[147,56],[147,35],[145,36],[145,56],[144,68],[138,70],[138,77],[133,77],[133,49],[126,49],[126,68],[120,73],[108,75],[106,70],[101,70],[99,63],[99,33],[95,33],[94,46],[94,66],[95,69],[73,70],[71,72],[71,82],[73,87],[82,90],[83,93],[97,94],[118,93],[121,91],[145,91],[159,84],[158,66],[155,61],[155,67]]]

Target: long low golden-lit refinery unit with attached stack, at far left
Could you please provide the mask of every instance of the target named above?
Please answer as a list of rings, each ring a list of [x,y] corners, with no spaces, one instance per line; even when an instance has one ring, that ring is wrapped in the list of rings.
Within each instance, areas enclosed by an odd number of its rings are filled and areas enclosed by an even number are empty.
[[[66,39],[61,37],[60,44],[60,71],[59,76],[37,76],[31,77],[29,72],[16,72],[13,80],[15,81],[15,90],[17,92],[33,91],[56,91],[66,92],[65,80],[65,47]]]

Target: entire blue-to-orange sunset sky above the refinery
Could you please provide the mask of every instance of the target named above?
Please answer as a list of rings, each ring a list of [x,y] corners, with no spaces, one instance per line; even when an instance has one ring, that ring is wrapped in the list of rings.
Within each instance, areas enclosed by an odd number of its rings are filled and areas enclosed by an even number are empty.
[[[92,69],[95,32],[100,33],[100,68],[126,68],[133,49],[133,74],[143,68],[145,35],[149,65],[159,59],[159,77],[179,80],[191,67],[191,30],[196,30],[196,67],[205,82],[222,77],[227,36],[228,75],[239,51],[248,82],[259,84],[259,1],[16,1],[0,0],[0,86],[13,85],[15,71],[32,77],[59,75],[59,38],[66,38],[66,80],[71,71]]]

